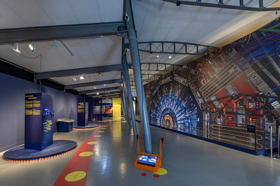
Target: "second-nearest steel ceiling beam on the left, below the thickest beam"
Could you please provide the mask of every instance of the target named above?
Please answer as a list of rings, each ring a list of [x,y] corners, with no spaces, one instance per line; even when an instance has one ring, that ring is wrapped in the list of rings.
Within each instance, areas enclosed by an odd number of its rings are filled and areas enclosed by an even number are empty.
[[[128,65],[131,68],[131,64]],[[108,66],[95,66],[81,69],[68,69],[68,70],[58,70],[50,72],[38,72],[35,73],[35,79],[45,79],[45,78],[55,78],[55,77],[67,77],[72,75],[82,75],[82,74],[94,74],[102,72],[111,72],[114,70],[124,69],[123,64],[118,65],[108,65]]]

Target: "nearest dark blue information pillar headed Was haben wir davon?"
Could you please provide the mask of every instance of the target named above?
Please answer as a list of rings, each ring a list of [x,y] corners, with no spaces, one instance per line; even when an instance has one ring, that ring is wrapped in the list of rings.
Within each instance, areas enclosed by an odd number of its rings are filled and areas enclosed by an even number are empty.
[[[24,148],[43,150],[52,145],[53,95],[25,94]]]

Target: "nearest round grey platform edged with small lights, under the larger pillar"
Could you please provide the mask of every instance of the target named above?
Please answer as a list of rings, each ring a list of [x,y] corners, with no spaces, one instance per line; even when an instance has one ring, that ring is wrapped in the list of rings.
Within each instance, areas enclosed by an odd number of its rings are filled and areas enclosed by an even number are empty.
[[[44,150],[25,149],[24,145],[12,148],[3,154],[3,159],[9,161],[29,161],[43,159],[63,154],[75,149],[77,142],[71,140],[53,140],[53,144]]]

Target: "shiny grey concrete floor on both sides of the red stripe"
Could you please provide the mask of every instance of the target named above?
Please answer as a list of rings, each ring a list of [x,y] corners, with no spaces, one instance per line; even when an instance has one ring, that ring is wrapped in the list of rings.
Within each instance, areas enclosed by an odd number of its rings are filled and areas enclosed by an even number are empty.
[[[125,121],[110,123],[94,146],[86,181],[88,186],[280,185],[280,160],[250,155],[150,126],[154,154],[157,153],[158,139],[164,138],[162,168],[167,174],[155,178],[153,172],[134,168],[136,137],[128,124]],[[141,123],[137,122],[137,129],[141,136]],[[0,185],[53,185],[79,146],[95,130],[55,133],[54,139],[78,143],[75,150],[63,156],[25,163],[0,159]],[[143,140],[142,149],[144,151]],[[0,153],[1,157],[3,153]],[[147,176],[141,176],[141,173]]]

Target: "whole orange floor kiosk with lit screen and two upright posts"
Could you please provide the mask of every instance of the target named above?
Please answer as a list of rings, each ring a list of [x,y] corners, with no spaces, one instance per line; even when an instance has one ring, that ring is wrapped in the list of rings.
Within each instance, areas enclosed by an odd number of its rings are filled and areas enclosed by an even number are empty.
[[[160,155],[149,154],[140,152],[140,137],[137,135],[138,140],[138,156],[134,163],[135,168],[141,168],[147,171],[158,172],[158,169],[162,166],[162,143],[163,138],[160,139]]]

